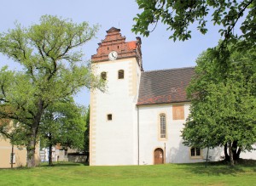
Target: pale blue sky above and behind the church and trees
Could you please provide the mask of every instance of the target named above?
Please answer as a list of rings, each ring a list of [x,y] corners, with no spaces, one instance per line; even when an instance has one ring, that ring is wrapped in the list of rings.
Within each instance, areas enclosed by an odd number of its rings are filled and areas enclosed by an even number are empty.
[[[173,42],[168,37],[172,34],[166,31],[166,25],[159,24],[149,37],[142,37],[131,32],[135,24],[133,18],[139,13],[135,0],[8,0],[2,1],[0,6],[0,32],[6,32],[15,27],[15,21],[23,26],[38,23],[44,14],[58,15],[70,18],[74,22],[89,22],[90,25],[101,25],[96,38],[84,45],[84,59],[89,60],[96,54],[97,43],[106,36],[106,31],[112,26],[121,29],[126,42],[142,38],[143,68],[144,70],[171,69],[195,66],[195,59],[207,48],[217,45],[218,28],[209,23],[209,31],[201,35],[194,28],[192,39],[186,42]],[[0,67],[9,65],[15,69],[11,60],[0,55]],[[76,95],[79,104],[89,104],[89,91],[84,89]]]

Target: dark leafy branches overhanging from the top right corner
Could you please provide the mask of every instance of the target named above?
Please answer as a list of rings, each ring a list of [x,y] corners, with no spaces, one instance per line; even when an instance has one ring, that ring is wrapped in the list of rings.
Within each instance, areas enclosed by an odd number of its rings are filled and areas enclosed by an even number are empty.
[[[148,37],[161,21],[171,31],[171,39],[184,41],[191,37],[192,25],[197,25],[198,31],[205,34],[208,22],[212,22],[220,27],[224,47],[238,38],[243,41],[241,47],[255,45],[255,0],[137,0],[137,4],[143,12],[134,18],[136,24],[132,31],[143,36]],[[235,28],[239,28],[241,34],[236,35],[238,29],[235,32]]]

